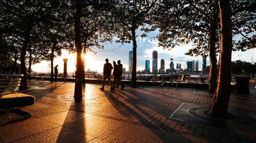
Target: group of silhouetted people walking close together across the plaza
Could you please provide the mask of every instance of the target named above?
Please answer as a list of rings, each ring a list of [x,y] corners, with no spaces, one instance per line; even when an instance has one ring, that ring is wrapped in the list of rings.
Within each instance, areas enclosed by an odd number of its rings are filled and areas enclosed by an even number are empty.
[[[103,75],[104,75],[103,84],[102,84],[102,88],[100,88],[100,89],[104,90],[107,78],[108,78],[108,82],[111,86],[110,90],[115,90],[115,88],[118,88],[119,84],[121,85],[121,89],[124,89],[124,84],[121,82],[121,76],[123,73],[123,65],[121,64],[121,61],[118,60],[117,64],[115,61],[113,61],[114,68],[113,68],[112,64],[108,62],[108,59],[106,59],[105,61],[106,61],[106,63],[104,64],[104,67],[103,67]],[[111,82],[112,69],[113,69],[113,76],[114,76],[113,84]],[[116,81],[117,81],[117,86],[115,87]]]

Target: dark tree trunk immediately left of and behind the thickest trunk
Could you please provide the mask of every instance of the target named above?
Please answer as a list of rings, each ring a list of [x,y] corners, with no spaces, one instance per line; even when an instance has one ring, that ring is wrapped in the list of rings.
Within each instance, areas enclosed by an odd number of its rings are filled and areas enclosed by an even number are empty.
[[[217,17],[216,17],[216,10],[215,10],[213,12],[213,18],[212,18],[211,30],[210,30],[210,41],[209,41],[209,56],[210,56],[211,68],[210,68],[208,91],[210,93],[214,93],[217,87],[217,82],[216,82],[217,58],[216,58],[216,47],[215,47],[216,28],[217,28]]]

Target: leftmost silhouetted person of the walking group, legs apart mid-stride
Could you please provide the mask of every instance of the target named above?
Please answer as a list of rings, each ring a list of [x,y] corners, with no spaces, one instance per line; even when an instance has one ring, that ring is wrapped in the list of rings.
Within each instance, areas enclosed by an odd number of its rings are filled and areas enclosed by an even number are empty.
[[[106,61],[106,63],[104,64],[104,67],[103,67],[104,78],[103,78],[102,88],[100,88],[100,89],[102,89],[102,90],[104,89],[106,79],[108,78],[108,82],[111,86],[111,90],[113,90],[112,82],[111,82],[111,70],[113,69],[113,67],[112,67],[112,64],[108,62],[108,59],[106,59],[105,61]]]

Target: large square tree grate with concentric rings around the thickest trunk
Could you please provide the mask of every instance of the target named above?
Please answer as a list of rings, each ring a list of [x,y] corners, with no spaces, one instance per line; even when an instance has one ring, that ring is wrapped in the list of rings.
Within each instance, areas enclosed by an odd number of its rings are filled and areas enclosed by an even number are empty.
[[[169,118],[237,131],[256,132],[256,111],[228,107],[229,117],[222,119],[211,116],[210,110],[209,105],[183,103]]]

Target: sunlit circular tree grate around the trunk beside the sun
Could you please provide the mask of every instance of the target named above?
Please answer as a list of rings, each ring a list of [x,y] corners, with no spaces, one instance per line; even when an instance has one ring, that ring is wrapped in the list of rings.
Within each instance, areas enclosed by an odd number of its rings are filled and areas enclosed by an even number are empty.
[[[49,98],[49,99],[55,99],[55,100],[61,100],[61,101],[67,101],[67,102],[82,102],[86,100],[92,100],[100,97],[107,97],[110,96],[111,94],[106,94],[106,95],[93,95],[93,94],[85,94],[84,92],[82,93],[82,98],[81,99],[75,99],[74,98],[74,93],[67,94],[67,95],[59,95],[59,96],[48,96],[44,98]]]

